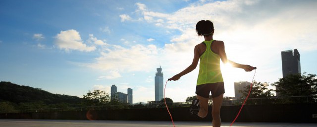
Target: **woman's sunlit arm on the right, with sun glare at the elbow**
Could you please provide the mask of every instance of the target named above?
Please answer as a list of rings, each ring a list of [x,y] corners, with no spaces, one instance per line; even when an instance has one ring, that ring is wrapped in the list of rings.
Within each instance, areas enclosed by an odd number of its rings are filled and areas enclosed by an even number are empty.
[[[227,62],[229,62],[233,67],[242,68],[245,71],[253,70],[253,67],[250,65],[238,64],[238,63],[235,63],[233,61],[228,60],[226,52],[224,50],[224,43],[222,41],[219,41],[217,46],[218,46],[218,54],[219,54],[219,57],[220,57],[223,64],[227,64]]]

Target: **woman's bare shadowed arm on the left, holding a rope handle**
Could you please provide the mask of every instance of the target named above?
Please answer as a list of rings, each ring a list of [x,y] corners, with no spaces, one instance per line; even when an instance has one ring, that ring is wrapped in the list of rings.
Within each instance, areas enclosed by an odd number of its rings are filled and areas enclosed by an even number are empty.
[[[192,64],[190,64],[182,72],[174,75],[173,77],[169,78],[168,80],[173,80],[173,81],[178,80],[181,76],[193,71],[197,67],[198,61],[199,61],[199,49],[198,49],[198,45],[197,45],[197,46],[195,46],[195,49],[194,49],[194,59],[193,59]]]

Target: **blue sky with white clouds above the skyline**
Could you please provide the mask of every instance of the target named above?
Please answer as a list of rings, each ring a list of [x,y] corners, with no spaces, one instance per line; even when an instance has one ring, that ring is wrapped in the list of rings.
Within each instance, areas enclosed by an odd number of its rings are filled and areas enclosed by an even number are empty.
[[[83,97],[133,89],[155,100],[156,68],[167,78],[192,63],[200,20],[229,60],[257,66],[255,81],[282,77],[281,51],[297,49],[302,72],[317,74],[316,0],[0,0],[0,80]],[[195,95],[194,71],[169,81],[166,97]],[[224,96],[255,71],[221,65]],[[164,84],[165,85],[165,84]],[[270,88],[273,88],[269,86]]]

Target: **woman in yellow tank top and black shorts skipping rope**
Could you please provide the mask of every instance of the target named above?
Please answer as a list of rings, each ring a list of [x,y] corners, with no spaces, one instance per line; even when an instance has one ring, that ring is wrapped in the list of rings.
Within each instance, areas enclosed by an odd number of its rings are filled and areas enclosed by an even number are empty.
[[[230,63],[233,67],[243,68],[245,71],[251,71],[254,67],[250,65],[237,64],[227,60],[222,41],[213,40],[213,23],[209,20],[201,20],[196,24],[196,32],[198,36],[204,36],[205,41],[196,45],[194,49],[194,59],[182,72],[174,75],[168,80],[178,80],[181,76],[193,71],[198,61],[199,74],[197,79],[196,94],[197,99],[193,101],[191,106],[192,114],[196,114],[204,118],[208,114],[208,100],[211,92],[212,97],[212,127],[220,127],[220,108],[222,104],[224,85],[220,70],[220,59],[223,64]],[[197,108],[195,112],[193,109]]]

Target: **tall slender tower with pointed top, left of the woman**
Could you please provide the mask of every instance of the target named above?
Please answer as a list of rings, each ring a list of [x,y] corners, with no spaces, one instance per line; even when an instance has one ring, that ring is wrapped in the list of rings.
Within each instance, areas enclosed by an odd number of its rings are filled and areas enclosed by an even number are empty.
[[[163,98],[163,73],[162,68],[157,68],[155,74],[155,100],[160,101]]]

